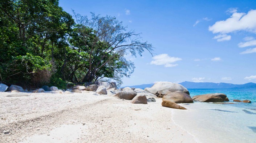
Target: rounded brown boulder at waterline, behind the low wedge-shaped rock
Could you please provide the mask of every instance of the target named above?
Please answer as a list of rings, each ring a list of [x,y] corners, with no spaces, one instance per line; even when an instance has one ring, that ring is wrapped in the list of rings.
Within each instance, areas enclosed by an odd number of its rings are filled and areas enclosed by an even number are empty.
[[[164,95],[163,99],[170,100],[175,103],[193,103],[193,99],[188,94],[182,92],[172,92],[170,94]]]

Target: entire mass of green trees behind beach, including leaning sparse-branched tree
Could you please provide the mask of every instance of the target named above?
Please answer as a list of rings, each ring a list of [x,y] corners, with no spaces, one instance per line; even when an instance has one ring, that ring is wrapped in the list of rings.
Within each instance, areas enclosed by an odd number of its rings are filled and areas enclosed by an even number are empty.
[[[89,18],[90,17],[90,18]],[[153,47],[115,17],[65,12],[58,0],[1,0],[0,82],[65,88],[114,80],[134,71],[124,56]]]

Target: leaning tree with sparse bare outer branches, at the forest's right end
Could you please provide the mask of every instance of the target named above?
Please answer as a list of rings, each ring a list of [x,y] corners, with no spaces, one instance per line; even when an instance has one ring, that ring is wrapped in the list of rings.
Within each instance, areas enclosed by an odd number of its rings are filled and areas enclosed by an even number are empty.
[[[140,34],[127,31],[127,27],[115,17],[92,14],[92,18],[76,14],[76,36],[73,35],[71,46],[85,53],[85,75],[82,82],[92,82],[99,78],[130,77],[134,64],[124,58],[127,52],[132,56],[140,55],[145,50],[153,51],[151,44],[142,42]],[[75,38],[76,37],[76,38]],[[118,75],[115,75],[118,74]]]

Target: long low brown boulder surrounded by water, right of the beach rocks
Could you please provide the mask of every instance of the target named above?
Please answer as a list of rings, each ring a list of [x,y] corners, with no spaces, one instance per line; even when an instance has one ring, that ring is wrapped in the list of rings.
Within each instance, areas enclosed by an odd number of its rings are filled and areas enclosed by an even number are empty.
[[[192,99],[200,102],[224,102],[226,97],[227,95],[225,94],[215,93],[215,94],[196,95],[196,96],[193,96]]]

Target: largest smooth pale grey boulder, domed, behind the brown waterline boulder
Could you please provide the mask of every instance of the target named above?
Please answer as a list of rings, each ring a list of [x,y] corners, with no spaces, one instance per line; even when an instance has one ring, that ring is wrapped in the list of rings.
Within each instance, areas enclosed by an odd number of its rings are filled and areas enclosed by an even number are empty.
[[[184,86],[178,83],[172,83],[172,82],[156,82],[152,87],[145,88],[144,90],[152,94],[159,94],[159,95],[163,91],[170,91],[170,92],[180,91],[189,95],[187,88],[185,88]]]

